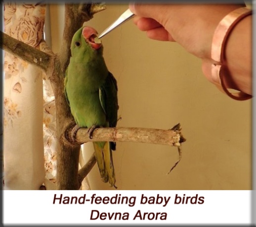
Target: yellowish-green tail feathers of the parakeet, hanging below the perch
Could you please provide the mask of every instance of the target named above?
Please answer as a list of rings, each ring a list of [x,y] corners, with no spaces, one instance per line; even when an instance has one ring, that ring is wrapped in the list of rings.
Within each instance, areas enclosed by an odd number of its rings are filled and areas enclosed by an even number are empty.
[[[102,181],[105,183],[109,182],[111,186],[116,187],[116,178],[110,142],[93,142],[93,147]]]

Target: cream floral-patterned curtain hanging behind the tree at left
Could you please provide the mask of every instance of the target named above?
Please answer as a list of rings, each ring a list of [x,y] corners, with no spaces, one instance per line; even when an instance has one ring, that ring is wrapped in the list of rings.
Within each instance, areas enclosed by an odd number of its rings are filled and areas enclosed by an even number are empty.
[[[4,4],[4,32],[35,48],[44,18],[45,4]],[[42,70],[4,52],[4,189],[39,190],[43,182],[54,189],[45,181],[45,172],[56,177],[54,131],[54,96]]]

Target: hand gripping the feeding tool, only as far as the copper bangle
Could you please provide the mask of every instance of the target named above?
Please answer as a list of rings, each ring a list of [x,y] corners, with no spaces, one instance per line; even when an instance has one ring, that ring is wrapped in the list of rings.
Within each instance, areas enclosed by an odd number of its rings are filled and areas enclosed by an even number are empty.
[[[211,58],[213,32],[239,4],[129,4],[134,23],[151,39],[176,41],[201,59]]]

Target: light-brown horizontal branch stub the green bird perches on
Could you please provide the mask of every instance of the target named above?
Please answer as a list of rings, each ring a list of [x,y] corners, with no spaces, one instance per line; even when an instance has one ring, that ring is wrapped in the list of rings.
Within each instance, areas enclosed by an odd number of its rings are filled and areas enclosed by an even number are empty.
[[[72,141],[72,129],[66,132],[66,139]],[[180,146],[186,139],[180,130],[158,130],[143,128],[98,128],[93,131],[92,139],[89,138],[87,128],[77,131],[76,142],[83,144],[92,141],[119,141],[119,142],[140,142],[161,145]]]

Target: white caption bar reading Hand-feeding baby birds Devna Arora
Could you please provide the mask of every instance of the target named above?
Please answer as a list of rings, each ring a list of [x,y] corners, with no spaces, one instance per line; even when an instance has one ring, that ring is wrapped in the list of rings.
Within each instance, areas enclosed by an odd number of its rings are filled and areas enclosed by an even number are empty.
[[[251,224],[251,191],[3,191],[4,224]]]

